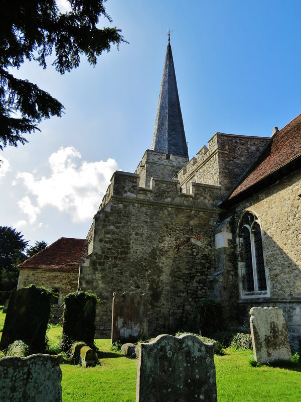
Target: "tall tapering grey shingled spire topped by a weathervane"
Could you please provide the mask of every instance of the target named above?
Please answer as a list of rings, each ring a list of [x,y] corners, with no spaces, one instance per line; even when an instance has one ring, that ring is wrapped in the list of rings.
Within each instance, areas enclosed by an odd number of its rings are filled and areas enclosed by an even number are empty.
[[[152,149],[188,158],[170,34],[168,36]]]

